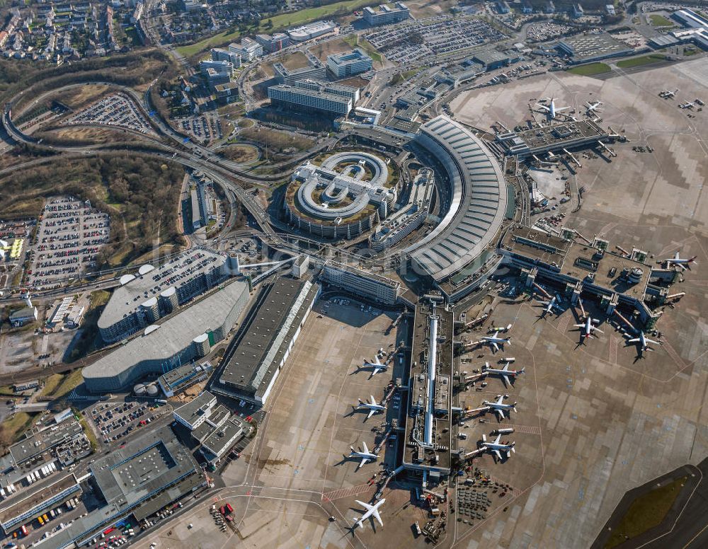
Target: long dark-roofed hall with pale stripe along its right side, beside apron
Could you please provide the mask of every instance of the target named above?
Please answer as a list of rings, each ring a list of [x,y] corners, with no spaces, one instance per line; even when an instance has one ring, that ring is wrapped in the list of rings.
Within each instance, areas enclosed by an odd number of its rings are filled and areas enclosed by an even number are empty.
[[[265,404],[319,291],[309,280],[266,284],[229,344],[210,391]]]

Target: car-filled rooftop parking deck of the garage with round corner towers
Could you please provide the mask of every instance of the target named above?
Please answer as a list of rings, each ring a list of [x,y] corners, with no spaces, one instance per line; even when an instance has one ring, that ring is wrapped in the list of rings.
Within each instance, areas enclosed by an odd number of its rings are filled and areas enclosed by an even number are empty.
[[[113,295],[98,318],[98,328],[112,326],[134,313],[148,299],[159,296],[161,291],[186,284],[200,274],[219,267],[226,260],[226,256],[220,253],[193,250],[178,255],[160,267],[143,265],[135,274],[124,275],[121,282],[125,283],[113,290]]]

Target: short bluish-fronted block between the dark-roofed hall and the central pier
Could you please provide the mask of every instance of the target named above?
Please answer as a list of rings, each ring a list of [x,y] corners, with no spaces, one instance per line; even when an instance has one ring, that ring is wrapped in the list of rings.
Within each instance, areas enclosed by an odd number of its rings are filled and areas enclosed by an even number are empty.
[[[384,305],[394,305],[401,293],[400,282],[333,260],[324,264],[320,279],[322,282]]]

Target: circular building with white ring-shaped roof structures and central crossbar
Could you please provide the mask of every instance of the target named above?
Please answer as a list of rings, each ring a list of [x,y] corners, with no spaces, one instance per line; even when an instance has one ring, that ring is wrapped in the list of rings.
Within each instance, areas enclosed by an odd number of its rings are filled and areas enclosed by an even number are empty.
[[[344,152],[321,166],[304,163],[292,174],[285,215],[296,229],[324,238],[354,238],[384,219],[396,202],[389,168],[378,156]]]

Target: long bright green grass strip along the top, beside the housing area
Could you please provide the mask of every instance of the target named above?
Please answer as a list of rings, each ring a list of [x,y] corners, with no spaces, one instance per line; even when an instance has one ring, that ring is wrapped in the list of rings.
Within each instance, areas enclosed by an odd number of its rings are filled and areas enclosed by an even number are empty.
[[[307,8],[299,11],[293,11],[291,13],[280,13],[280,15],[270,18],[270,21],[273,22],[273,28],[265,28],[268,18],[264,18],[258,26],[258,33],[274,33],[276,30],[281,30],[283,28],[292,27],[295,25],[303,25],[304,23],[310,23],[311,21],[316,21],[317,19],[345,15],[346,13],[350,13],[355,9],[362,8],[363,6],[367,6],[371,3],[371,0],[343,0],[334,4],[327,4],[326,6],[319,6],[317,8]],[[178,47],[177,51],[185,57],[192,57],[199,52],[208,50],[210,47],[216,47],[227,42],[233,42],[234,40],[237,40],[240,35],[241,32],[239,30],[219,33],[217,35],[205,38],[205,40],[201,40],[200,42],[195,42],[194,44],[188,46]]]

